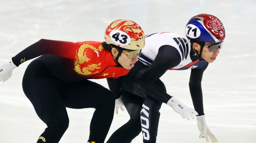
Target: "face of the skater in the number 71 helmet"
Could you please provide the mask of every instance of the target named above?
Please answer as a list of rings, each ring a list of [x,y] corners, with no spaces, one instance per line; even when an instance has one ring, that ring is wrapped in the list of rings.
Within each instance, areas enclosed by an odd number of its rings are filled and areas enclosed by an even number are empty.
[[[205,45],[210,46],[210,45],[215,45],[217,43],[211,43],[211,42],[205,42]],[[201,46],[197,43],[193,44],[193,48],[200,54],[200,48]],[[201,54],[201,58],[203,60],[206,60],[208,63],[212,63],[216,60],[216,57],[218,56],[220,51],[220,48],[217,49],[215,52],[209,52],[209,48],[203,47],[203,51]]]

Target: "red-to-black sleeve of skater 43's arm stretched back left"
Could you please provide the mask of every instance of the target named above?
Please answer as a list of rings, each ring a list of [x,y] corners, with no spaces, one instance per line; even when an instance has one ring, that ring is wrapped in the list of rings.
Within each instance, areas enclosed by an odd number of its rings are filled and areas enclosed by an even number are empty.
[[[41,39],[14,56],[12,61],[16,66],[19,66],[27,60],[44,54],[52,54],[75,60],[78,48],[78,43]]]

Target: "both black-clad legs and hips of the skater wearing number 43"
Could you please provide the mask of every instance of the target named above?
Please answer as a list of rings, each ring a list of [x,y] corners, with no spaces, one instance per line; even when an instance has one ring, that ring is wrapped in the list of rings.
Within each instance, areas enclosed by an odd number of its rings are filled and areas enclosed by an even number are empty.
[[[104,143],[115,105],[115,97],[108,89],[90,80],[64,82],[56,78],[41,60],[29,64],[22,85],[38,117],[47,125],[37,143],[60,141],[69,124],[66,107],[95,108],[88,141]]]

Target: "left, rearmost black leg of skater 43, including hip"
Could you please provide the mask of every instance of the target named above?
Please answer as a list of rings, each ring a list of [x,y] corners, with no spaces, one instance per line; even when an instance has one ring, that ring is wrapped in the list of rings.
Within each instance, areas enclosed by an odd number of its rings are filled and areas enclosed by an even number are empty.
[[[64,83],[51,76],[40,60],[34,60],[23,77],[23,91],[47,125],[37,143],[58,143],[68,128],[68,114],[58,90]]]

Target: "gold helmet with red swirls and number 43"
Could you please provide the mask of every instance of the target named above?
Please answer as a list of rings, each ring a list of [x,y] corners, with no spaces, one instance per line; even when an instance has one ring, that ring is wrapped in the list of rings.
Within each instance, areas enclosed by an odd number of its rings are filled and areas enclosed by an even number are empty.
[[[109,24],[105,30],[105,41],[120,48],[139,50],[144,48],[145,36],[137,23],[120,19]]]

